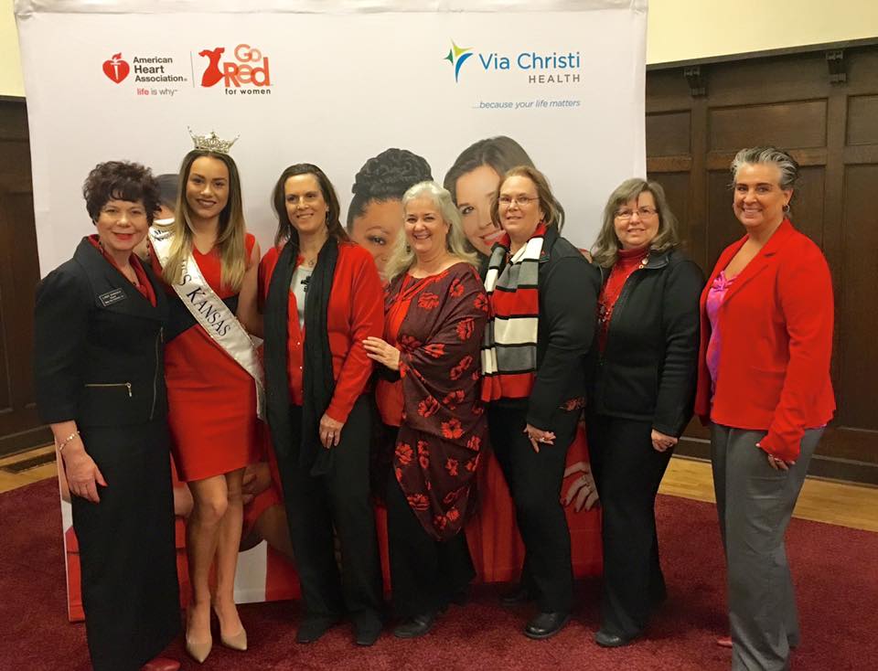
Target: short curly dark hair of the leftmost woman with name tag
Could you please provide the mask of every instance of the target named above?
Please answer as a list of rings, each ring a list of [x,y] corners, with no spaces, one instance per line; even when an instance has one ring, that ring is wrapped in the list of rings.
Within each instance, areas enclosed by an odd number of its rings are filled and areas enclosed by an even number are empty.
[[[82,185],[82,197],[92,221],[98,220],[103,206],[111,200],[141,201],[149,223],[153,223],[159,206],[158,185],[152,171],[130,161],[105,161],[95,165]]]

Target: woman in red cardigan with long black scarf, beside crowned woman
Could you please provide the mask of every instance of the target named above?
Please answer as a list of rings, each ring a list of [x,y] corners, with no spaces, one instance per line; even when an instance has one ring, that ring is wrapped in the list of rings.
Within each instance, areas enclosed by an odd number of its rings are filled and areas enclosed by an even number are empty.
[[[382,591],[369,498],[372,363],[362,341],[383,331],[381,282],[369,252],[348,241],[335,189],[316,165],[286,168],[273,205],[279,226],[260,268],[265,380],[305,602],[296,641],[316,641],[347,614],[357,644],[371,645]]]

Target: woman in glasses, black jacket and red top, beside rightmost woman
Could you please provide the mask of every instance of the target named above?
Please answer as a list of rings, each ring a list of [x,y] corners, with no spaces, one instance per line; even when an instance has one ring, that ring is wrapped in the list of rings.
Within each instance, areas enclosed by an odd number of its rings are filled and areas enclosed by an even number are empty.
[[[692,416],[704,285],[679,247],[659,184],[628,179],[610,195],[592,249],[602,289],[585,411],[603,509],[604,592],[594,640],[605,647],[636,638],[665,599],[654,507]]]

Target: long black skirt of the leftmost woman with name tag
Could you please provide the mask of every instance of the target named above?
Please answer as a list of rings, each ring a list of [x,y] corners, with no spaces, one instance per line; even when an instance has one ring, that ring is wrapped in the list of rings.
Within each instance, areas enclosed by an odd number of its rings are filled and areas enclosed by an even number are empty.
[[[138,671],[180,631],[167,424],[80,431],[107,481],[100,503],[71,501],[91,666]]]

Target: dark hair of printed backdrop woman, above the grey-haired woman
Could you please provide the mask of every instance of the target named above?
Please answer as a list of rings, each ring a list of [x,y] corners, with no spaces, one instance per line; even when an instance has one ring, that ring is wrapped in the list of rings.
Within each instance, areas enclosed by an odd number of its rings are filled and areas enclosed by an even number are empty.
[[[407,149],[391,147],[372,156],[359,169],[350,189],[354,197],[348,207],[348,230],[372,201],[402,200],[411,186],[432,180],[427,160]]]

